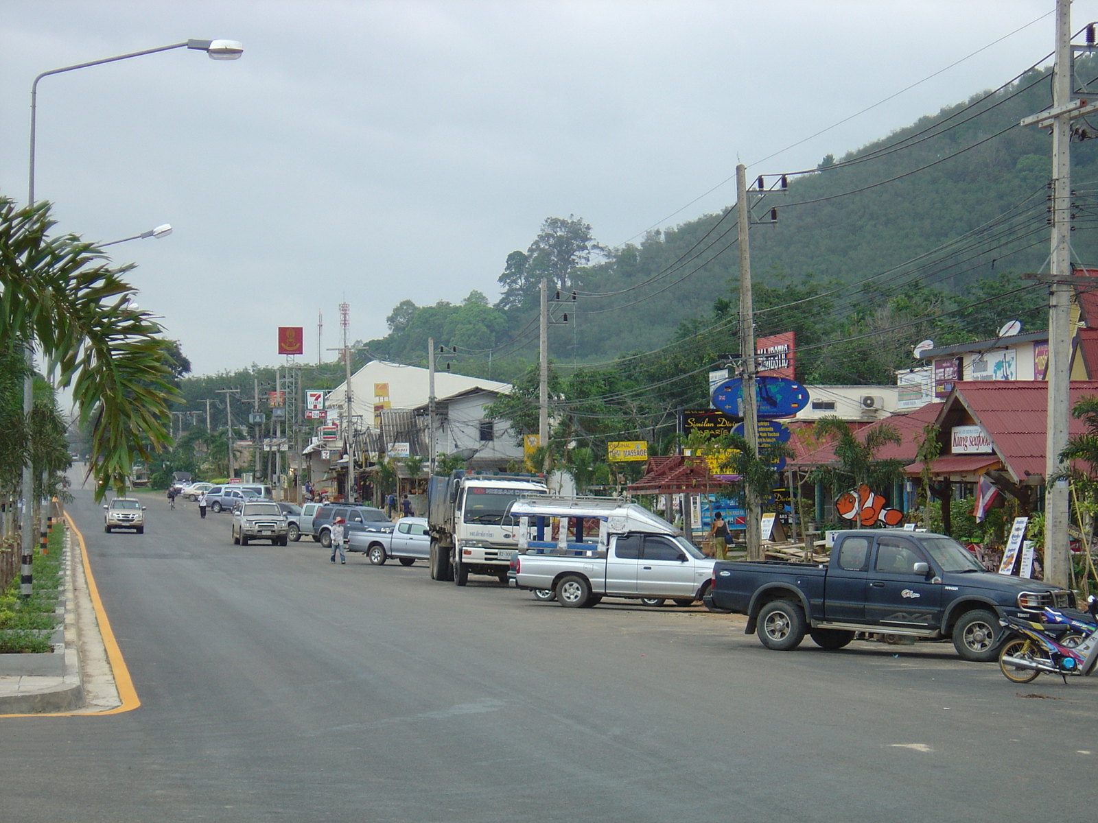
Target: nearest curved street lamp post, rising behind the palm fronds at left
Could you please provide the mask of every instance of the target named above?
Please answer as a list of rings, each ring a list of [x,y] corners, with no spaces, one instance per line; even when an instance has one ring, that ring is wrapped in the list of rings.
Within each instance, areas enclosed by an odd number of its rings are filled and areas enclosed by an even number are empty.
[[[78,63],[75,66],[65,66],[59,69],[52,69],[51,71],[43,71],[36,78],[34,82],[31,83],[31,166],[30,174],[27,178],[27,193],[26,193],[26,204],[29,206],[34,205],[34,144],[35,136],[37,132],[37,111],[38,111],[38,82],[44,77],[49,77],[51,75],[61,75],[66,71],[76,71],[80,68],[88,68],[89,66],[102,66],[104,63],[116,63],[119,60],[127,60],[131,57],[142,57],[147,54],[156,54],[157,52],[170,52],[173,48],[193,48],[200,52],[205,52],[210,55],[211,59],[214,60],[235,60],[242,54],[244,54],[244,46],[242,46],[235,40],[189,40],[183,43],[172,43],[169,46],[159,46],[158,48],[146,48],[143,52],[130,52],[128,54],[120,54],[114,57],[104,57],[101,60],[91,60],[89,63]],[[163,226],[158,227],[163,228]],[[157,236],[155,234],[157,229],[153,229],[153,237]],[[170,232],[170,227],[168,228]],[[165,233],[167,234],[167,233]],[[145,235],[139,235],[144,237]],[[163,234],[160,235],[164,236]],[[131,239],[131,238],[126,238]],[[34,407],[34,341],[27,340],[26,342],[26,365],[27,365],[27,376],[23,381],[23,416],[30,418],[31,410]],[[23,534],[22,534],[22,568],[21,579],[20,579],[20,594],[23,597],[30,597],[32,594],[32,573],[31,573],[31,562],[32,552],[34,551],[34,466],[27,462],[23,466],[23,483],[22,483],[22,504],[23,504]]]

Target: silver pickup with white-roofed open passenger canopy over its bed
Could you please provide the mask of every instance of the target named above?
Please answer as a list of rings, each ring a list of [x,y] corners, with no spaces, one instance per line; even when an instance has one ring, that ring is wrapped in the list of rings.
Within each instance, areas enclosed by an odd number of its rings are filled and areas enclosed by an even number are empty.
[[[635,503],[529,497],[516,500],[511,514],[519,520],[519,548],[508,578],[518,588],[540,593],[539,599],[549,599],[551,591],[561,606],[572,608],[594,606],[604,597],[690,606],[705,597],[713,582],[715,561]]]

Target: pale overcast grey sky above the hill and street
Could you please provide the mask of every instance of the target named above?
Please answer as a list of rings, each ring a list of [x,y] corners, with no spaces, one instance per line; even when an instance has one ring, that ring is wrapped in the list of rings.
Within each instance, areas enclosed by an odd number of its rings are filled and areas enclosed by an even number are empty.
[[[49,77],[36,194],[60,229],[113,240],[141,305],[195,373],[306,359],[385,334],[404,298],[460,301],[547,216],[617,246],[732,202],[735,173],[814,167],[1001,84],[1052,50],[1053,0],[674,2],[96,2],[0,0],[0,191],[26,198],[36,74],[189,37],[178,49]],[[1098,16],[1076,0],[1073,29]],[[329,359],[328,353],[325,354]]]

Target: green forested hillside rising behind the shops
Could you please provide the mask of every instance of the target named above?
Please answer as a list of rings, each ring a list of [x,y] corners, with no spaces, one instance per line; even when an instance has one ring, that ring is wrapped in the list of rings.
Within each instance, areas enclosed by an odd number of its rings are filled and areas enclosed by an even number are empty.
[[[1086,88],[1098,80],[1098,63],[1082,59],[1076,74]],[[815,170],[773,168],[789,173],[788,189],[754,198],[754,221],[777,210],[776,224],[751,228],[755,281],[776,286],[778,295],[791,285],[848,284],[832,297],[834,317],[879,308],[915,283],[963,302],[981,279],[1038,270],[1047,257],[1051,138],[1018,123],[1049,104],[1050,71],[1032,70],[838,160],[828,156]],[[1073,144],[1073,260],[1098,261],[1098,155],[1089,139],[1098,129],[1077,125],[1086,132]],[[777,178],[768,174],[764,183],[772,189]],[[549,277],[565,300],[578,294],[557,309],[570,320],[550,335],[557,360],[657,349],[683,334],[681,324],[712,318],[715,303],[735,309],[736,234],[731,205],[616,249],[600,248],[582,219],[550,218],[527,251],[501,259],[502,275],[485,272],[482,283],[470,284],[480,291],[463,304],[404,301],[390,317],[392,332],[369,347],[376,356],[418,362],[434,337],[458,347],[455,368],[482,372],[493,358],[495,376],[507,379],[508,361],[514,367],[535,353],[537,283]],[[481,292],[496,277],[503,296],[491,305]],[[1010,281],[998,282],[1001,289]],[[965,334],[991,335],[996,319],[982,315],[991,327]]]

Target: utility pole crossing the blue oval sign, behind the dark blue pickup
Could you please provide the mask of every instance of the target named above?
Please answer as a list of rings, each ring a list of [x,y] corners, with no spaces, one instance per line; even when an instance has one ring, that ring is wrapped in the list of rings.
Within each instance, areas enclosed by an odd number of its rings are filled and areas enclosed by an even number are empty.
[[[736,167],[736,225],[740,246],[740,359],[742,361],[743,439],[754,455],[759,456],[759,404],[755,397],[754,307],[751,298],[751,252],[748,229],[751,223],[748,208],[747,167]],[[762,501],[754,491],[743,484],[743,503],[747,511],[746,534],[748,560],[762,560]],[[687,535],[687,539],[690,535]]]

